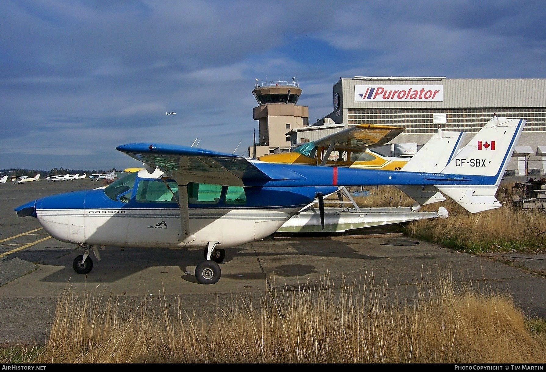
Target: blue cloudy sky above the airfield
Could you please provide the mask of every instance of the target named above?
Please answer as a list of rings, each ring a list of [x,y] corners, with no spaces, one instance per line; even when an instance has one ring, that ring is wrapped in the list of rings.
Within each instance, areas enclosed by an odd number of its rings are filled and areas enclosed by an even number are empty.
[[[310,122],[340,77],[546,77],[541,1],[0,2],[0,169],[123,169],[115,147],[244,154],[254,82]],[[176,115],[167,116],[166,111]]]

